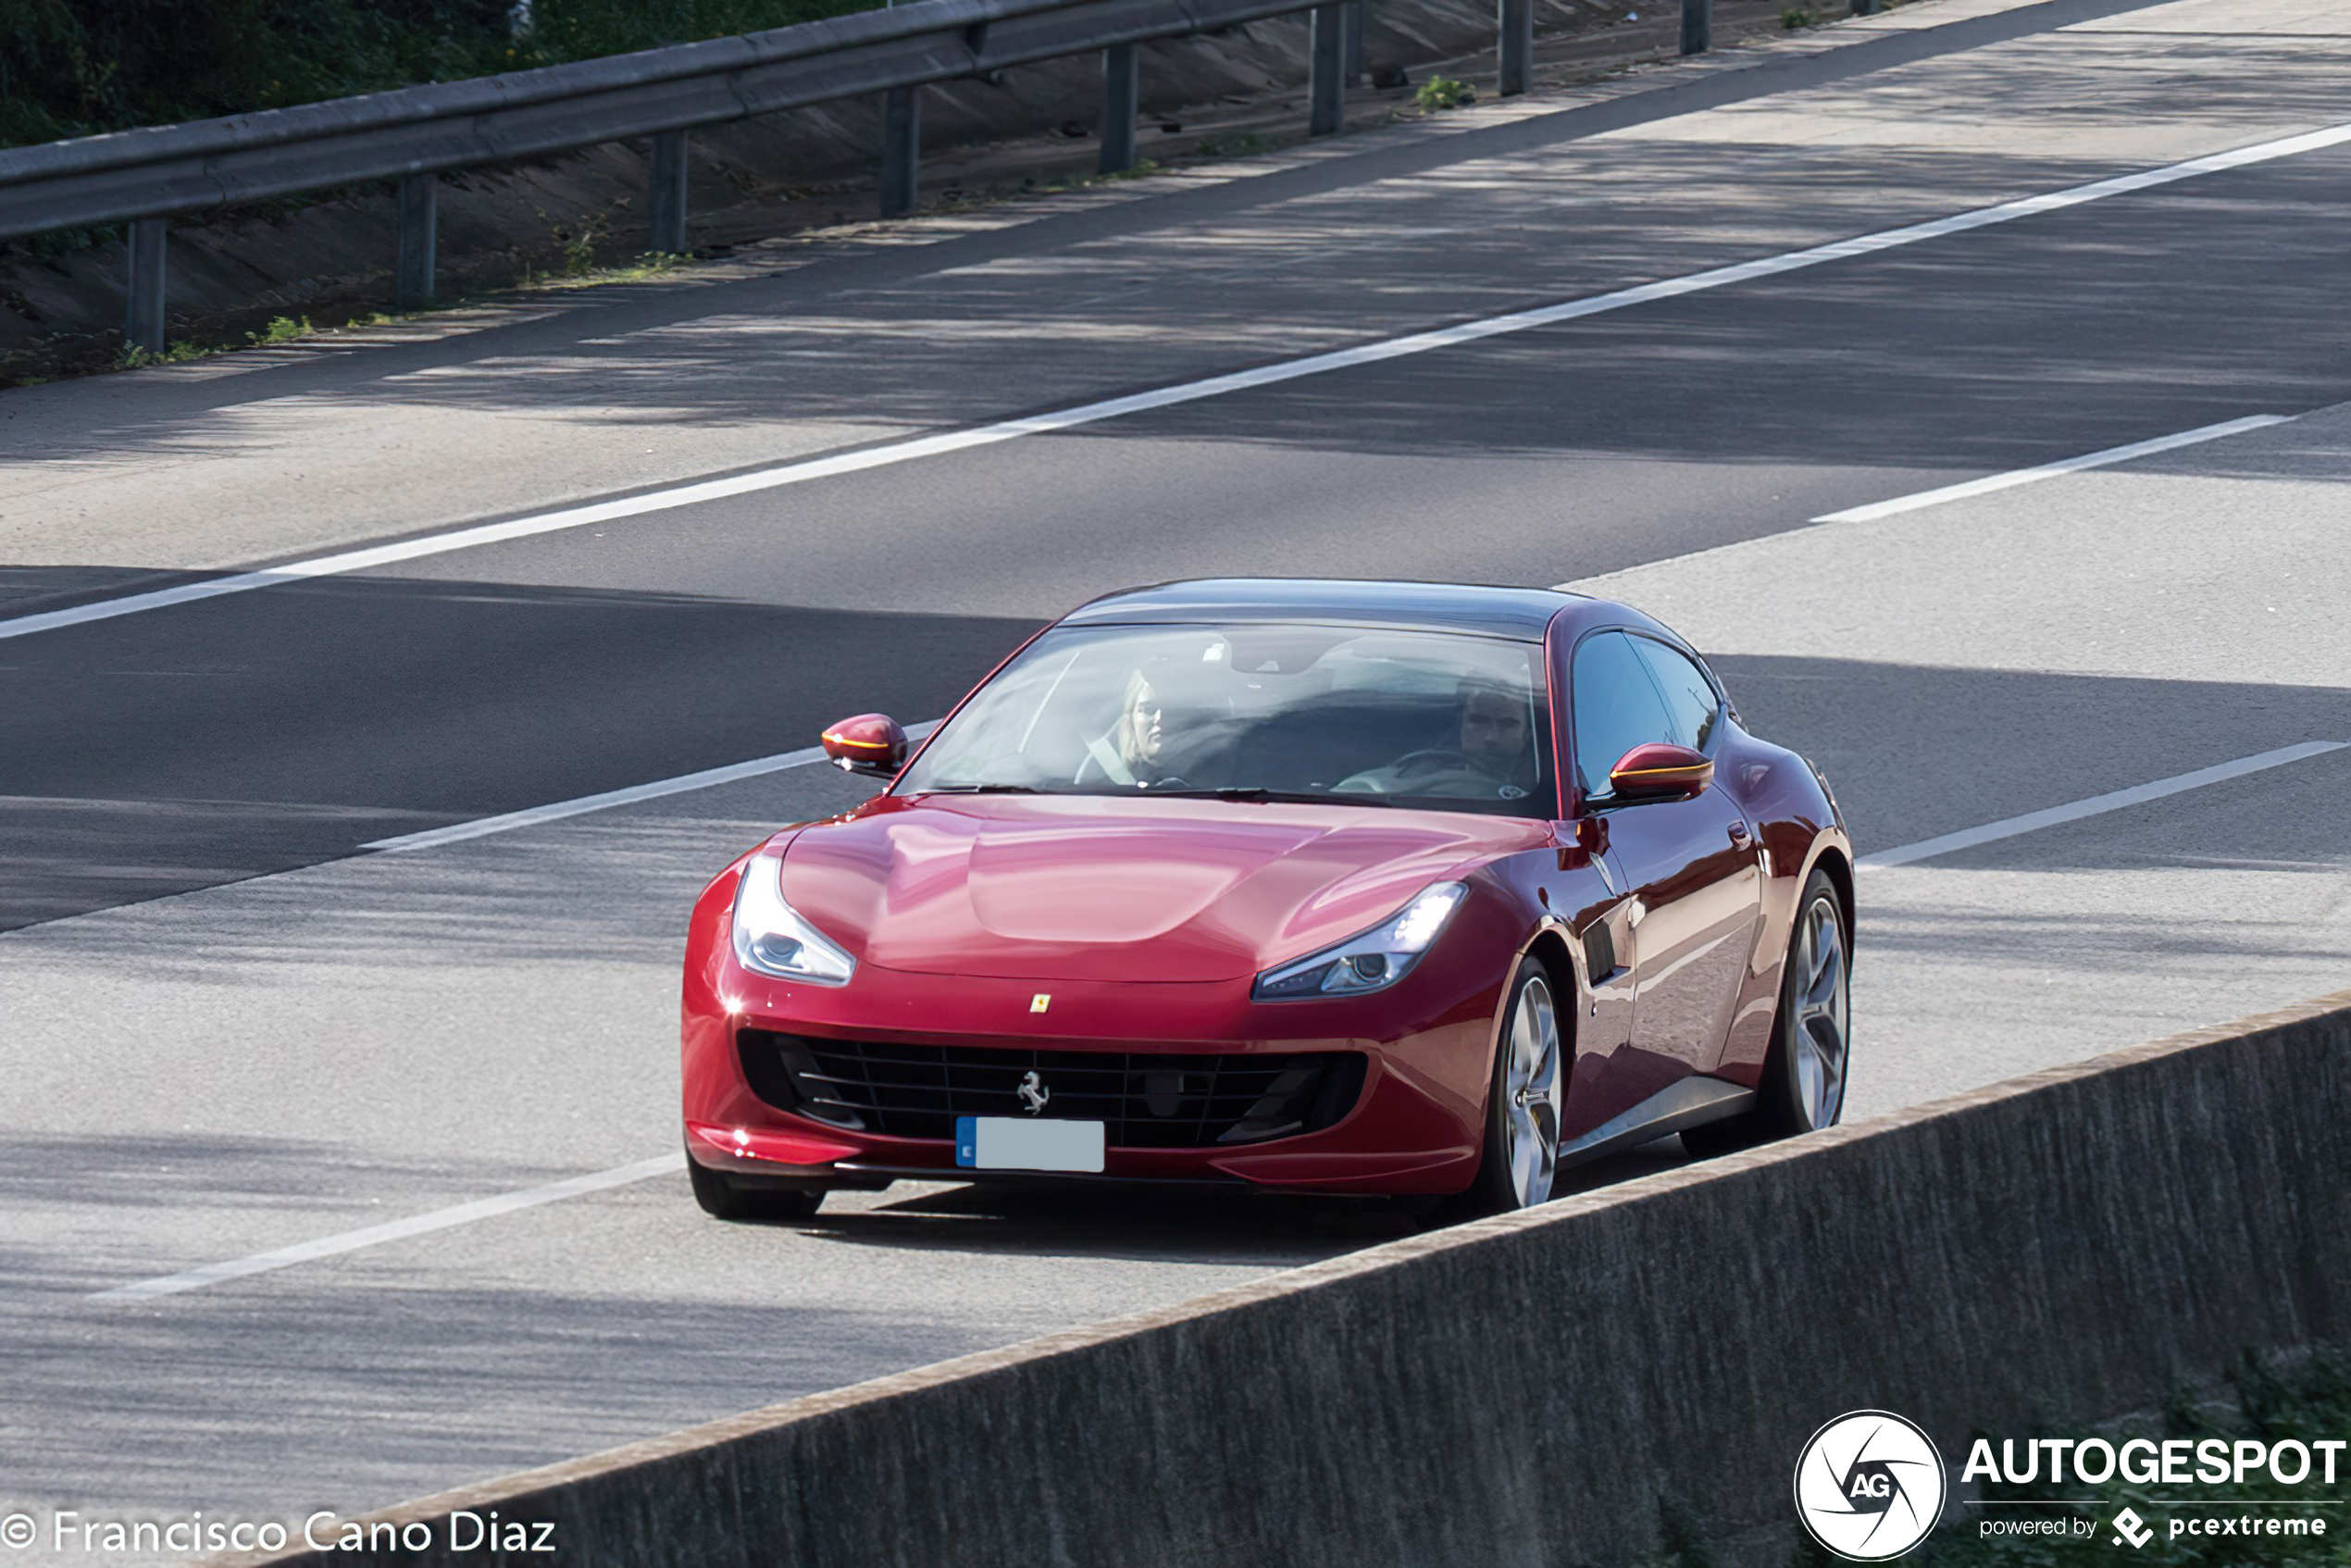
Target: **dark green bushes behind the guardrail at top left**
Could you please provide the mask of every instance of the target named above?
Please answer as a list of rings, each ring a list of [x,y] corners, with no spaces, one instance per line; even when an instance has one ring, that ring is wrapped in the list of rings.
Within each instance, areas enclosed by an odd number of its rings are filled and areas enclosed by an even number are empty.
[[[868,9],[872,0],[0,0],[0,146],[315,103]]]

